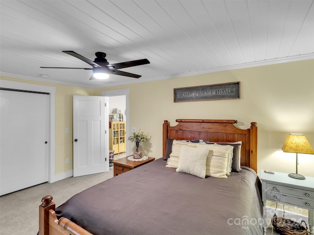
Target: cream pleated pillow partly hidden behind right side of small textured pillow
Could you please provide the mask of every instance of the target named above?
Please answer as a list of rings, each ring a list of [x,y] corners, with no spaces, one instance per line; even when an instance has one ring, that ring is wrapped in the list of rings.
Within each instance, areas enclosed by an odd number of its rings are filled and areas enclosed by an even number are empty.
[[[228,178],[228,146],[214,146],[214,144],[197,144],[197,148],[207,148],[210,150],[206,160],[206,175],[217,178]]]

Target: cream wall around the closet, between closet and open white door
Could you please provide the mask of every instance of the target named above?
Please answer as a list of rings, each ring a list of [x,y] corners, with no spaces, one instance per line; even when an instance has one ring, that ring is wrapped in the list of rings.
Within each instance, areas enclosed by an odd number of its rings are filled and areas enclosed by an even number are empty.
[[[56,88],[55,93],[55,174],[62,174],[73,170],[73,95],[94,95],[94,89],[59,85],[45,82],[34,82],[0,76],[0,79],[24,82]],[[65,128],[69,128],[69,133]],[[70,164],[66,164],[66,159]]]

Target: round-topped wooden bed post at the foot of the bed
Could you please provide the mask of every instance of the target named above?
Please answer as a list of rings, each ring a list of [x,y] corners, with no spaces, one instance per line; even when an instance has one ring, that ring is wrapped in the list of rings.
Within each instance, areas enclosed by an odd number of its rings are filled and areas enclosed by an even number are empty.
[[[47,195],[41,199],[39,206],[39,233],[38,235],[49,234],[49,210],[55,210],[55,204],[52,202],[52,196]]]

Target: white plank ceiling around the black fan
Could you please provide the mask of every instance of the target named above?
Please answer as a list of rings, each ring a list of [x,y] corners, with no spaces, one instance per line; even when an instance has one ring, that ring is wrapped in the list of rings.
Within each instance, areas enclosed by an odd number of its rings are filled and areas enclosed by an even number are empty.
[[[1,0],[1,75],[84,87],[314,58],[313,0]],[[109,63],[147,58],[90,81],[62,50]],[[47,77],[41,74],[47,75]]]

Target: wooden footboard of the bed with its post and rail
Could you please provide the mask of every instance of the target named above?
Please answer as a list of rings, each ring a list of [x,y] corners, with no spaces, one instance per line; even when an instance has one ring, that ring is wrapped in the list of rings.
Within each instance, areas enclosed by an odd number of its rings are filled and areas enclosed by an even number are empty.
[[[38,235],[92,235],[67,218],[57,219],[51,195],[44,196],[41,202]]]

